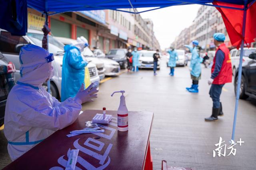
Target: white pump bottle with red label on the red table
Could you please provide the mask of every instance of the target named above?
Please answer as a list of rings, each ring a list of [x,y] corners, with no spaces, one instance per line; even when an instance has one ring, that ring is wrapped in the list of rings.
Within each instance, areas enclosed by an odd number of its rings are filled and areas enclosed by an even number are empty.
[[[128,131],[128,109],[125,104],[125,91],[114,92],[111,96],[115,93],[122,93],[122,96],[120,97],[120,105],[117,110],[117,129],[118,131]]]

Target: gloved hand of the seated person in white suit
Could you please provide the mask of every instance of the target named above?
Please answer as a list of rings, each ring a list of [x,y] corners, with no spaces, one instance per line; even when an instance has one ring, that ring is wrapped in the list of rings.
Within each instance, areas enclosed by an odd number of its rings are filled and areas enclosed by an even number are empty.
[[[94,84],[92,83],[88,88],[84,90],[84,83],[82,84],[80,90],[74,97],[74,100],[79,102],[80,104],[83,104],[85,102],[93,102],[93,98],[97,98],[97,87],[93,87]]]

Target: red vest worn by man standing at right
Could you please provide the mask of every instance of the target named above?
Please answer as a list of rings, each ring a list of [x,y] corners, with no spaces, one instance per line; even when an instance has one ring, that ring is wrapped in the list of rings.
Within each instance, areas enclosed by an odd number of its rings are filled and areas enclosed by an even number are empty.
[[[214,78],[214,81],[212,82],[212,84],[230,83],[230,82],[232,82],[232,65],[231,65],[231,58],[230,58],[229,50],[224,43],[219,46],[217,51],[218,50],[221,50],[224,53],[225,58],[222,63],[220,72],[219,72],[218,76]],[[216,51],[216,53],[217,53],[217,51]],[[218,56],[215,55],[215,57],[213,59],[212,72],[214,71],[214,68],[215,68],[216,57],[218,57]]]

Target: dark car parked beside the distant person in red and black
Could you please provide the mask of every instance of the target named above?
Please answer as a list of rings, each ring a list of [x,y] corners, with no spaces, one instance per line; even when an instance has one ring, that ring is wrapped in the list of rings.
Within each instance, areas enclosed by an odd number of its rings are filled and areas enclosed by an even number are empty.
[[[122,69],[125,69],[127,67],[126,53],[127,49],[111,49],[106,57],[116,61]]]

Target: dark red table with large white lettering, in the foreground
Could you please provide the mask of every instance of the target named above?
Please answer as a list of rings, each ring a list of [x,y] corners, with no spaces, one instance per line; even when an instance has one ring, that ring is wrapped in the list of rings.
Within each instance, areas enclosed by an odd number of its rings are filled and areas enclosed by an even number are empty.
[[[85,128],[100,110],[86,110],[70,126],[56,131],[50,137],[9,164],[4,170],[63,170],[70,149],[79,149],[76,169],[141,170],[152,169],[149,138],[152,128],[152,112],[129,111],[126,132],[117,131],[116,111],[104,133],[87,133],[68,138],[70,131]]]

